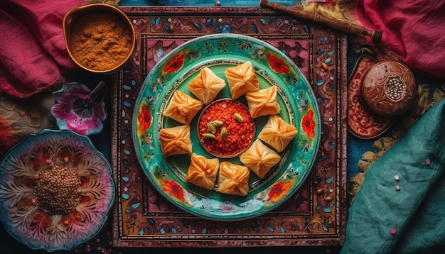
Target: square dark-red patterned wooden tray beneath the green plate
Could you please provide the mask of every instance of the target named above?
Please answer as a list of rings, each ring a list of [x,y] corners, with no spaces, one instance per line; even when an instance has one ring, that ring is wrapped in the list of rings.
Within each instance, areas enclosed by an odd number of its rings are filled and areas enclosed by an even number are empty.
[[[242,247],[342,245],[346,223],[346,36],[257,7],[120,7],[134,23],[134,60],[114,77],[112,167],[117,182],[113,245]],[[295,62],[313,88],[322,136],[300,189],[254,219],[208,221],[178,209],[142,172],[132,141],[132,114],[146,75],[181,43],[211,33],[239,33],[271,43]],[[156,87],[154,87],[156,89]]]

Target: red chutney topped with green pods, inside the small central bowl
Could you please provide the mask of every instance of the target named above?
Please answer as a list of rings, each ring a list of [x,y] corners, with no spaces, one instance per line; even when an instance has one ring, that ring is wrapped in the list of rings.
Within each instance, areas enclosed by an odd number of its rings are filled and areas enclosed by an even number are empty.
[[[213,130],[209,123],[215,127]],[[247,107],[232,99],[209,104],[198,121],[200,143],[209,153],[221,158],[232,158],[247,150],[254,140],[254,131],[254,121]]]

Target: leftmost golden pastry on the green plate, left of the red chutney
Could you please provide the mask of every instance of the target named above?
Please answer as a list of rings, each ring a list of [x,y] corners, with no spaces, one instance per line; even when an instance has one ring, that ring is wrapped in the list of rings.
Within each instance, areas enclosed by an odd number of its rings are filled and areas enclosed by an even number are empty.
[[[162,128],[159,131],[159,140],[161,141],[161,151],[164,157],[192,153],[192,140],[188,124]]]

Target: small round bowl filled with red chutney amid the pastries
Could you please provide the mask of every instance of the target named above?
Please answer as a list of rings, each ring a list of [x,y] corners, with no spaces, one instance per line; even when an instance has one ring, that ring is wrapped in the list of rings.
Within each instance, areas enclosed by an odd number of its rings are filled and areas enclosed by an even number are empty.
[[[221,109],[219,106],[220,104],[225,103],[238,106],[240,113],[245,116],[247,115],[248,117],[243,118],[241,122],[237,121],[234,113],[230,111],[230,109]],[[208,116],[206,112],[210,109],[214,109],[214,106],[215,109],[220,109],[219,111],[217,110],[217,114],[220,117],[206,119],[205,117]],[[220,121],[222,125],[219,126],[216,121]],[[213,125],[211,128],[215,128],[211,130],[209,124],[210,126]],[[237,126],[250,128],[250,132],[236,133],[235,128],[237,128]],[[226,128],[226,137],[223,137],[223,128]],[[255,138],[256,127],[252,116],[250,116],[249,109],[247,109],[245,104],[242,104],[240,101],[236,101],[234,99],[225,98],[218,99],[208,104],[208,106],[205,106],[198,117],[196,131],[198,132],[198,140],[205,151],[215,157],[228,159],[235,158],[250,148],[250,145],[252,145]],[[206,136],[210,136],[210,138],[206,138]],[[218,151],[211,148],[212,146],[215,147],[216,145],[223,146]],[[230,148],[235,148],[235,151],[230,151]]]

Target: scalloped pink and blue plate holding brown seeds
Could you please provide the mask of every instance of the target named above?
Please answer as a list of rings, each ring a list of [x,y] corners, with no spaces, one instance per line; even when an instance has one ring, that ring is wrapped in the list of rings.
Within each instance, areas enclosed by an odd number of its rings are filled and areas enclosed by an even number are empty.
[[[31,249],[72,250],[95,236],[114,193],[107,160],[72,131],[31,134],[0,164],[0,221]]]

